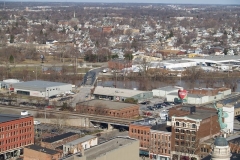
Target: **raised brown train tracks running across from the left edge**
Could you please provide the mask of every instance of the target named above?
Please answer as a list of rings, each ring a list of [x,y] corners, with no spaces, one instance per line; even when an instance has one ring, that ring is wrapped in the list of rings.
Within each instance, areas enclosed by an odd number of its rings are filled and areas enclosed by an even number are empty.
[[[37,108],[31,107],[20,107],[20,106],[7,106],[7,105],[0,105],[0,108],[9,108],[9,109],[18,109],[18,110],[27,110],[27,111],[34,111],[37,113],[46,113],[46,114],[53,114],[53,115],[65,115],[71,117],[81,117],[81,118],[89,118],[90,121],[95,122],[105,122],[110,124],[117,124],[117,125],[129,125],[130,123],[134,122],[133,119],[127,118],[119,118],[119,117],[111,117],[111,116],[104,116],[104,115],[93,115],[93,114],[80,114],[68,111],[57,111],[57,110],[42,110]]]

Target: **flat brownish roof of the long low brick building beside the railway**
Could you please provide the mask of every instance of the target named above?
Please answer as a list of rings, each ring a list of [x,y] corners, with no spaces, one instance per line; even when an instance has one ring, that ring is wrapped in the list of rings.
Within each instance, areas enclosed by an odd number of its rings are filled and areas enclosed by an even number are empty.
[[[121,109],[132,107],[132,106],[138,106],[137,104],[114,102],[110,100],[108,101],[108,100],[100,100],[100,99],[92,99],[85,102],[79,102],[77,104],[85,105],[85,106],[102,107],[102,108],[108,108],[108,109],[114,109],[114,110],[121,110]]]

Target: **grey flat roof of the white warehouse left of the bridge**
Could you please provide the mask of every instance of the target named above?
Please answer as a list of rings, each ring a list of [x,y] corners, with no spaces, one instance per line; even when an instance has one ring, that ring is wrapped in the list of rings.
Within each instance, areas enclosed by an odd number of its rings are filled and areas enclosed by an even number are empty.
[[[48,87],[58,87],[62,85],[70,85],[69,83],[60,83],[60,82],[51,82],[51,81],[27,81],[12,84],[14,88],[26,89],[26,90],[38,90],[38,91],[46,91]],[[71,85],[72,86],[72,85]]]

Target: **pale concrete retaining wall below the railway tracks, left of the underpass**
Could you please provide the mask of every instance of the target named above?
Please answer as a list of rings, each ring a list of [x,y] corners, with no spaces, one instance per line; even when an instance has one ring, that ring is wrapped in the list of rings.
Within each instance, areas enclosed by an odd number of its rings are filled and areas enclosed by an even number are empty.
[[[61,119],[61,118],[34,118],[41,123],[57,124],[59,126],[77,126],[77,127],[91,127],[88,118],[76,118],[76,119]]]

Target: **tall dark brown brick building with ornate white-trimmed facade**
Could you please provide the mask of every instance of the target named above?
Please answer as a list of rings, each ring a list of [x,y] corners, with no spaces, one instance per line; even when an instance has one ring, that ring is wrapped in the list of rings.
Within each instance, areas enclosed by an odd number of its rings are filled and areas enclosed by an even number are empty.
[[[169,110],[168,125],[172,126],[172,160],[199,160],[203,143],[220,134],[218,115],[215,109],[195,106],[178,106]],[[203,149],[202,149],[203,148]],[[203,151],[204,152],[204,151]]]

